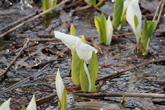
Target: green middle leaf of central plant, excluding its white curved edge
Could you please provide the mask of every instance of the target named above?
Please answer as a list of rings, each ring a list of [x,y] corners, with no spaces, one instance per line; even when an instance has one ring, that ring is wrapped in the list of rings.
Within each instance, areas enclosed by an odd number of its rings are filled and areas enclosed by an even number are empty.
[[[89,80],[88,80],[88,75],[84,69],[84,64],[85,61],[81,60],[80,61],[80,83],[81,83],[81,90],[84,92],[89,91]]]

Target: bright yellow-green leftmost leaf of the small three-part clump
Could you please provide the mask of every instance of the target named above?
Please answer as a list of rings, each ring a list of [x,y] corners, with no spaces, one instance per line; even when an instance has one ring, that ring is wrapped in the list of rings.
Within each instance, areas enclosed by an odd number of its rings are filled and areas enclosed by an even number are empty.
[[[95,16],[95,26],[99,32],[99,41],[100,43],[103,43],[104,40],[103,40],[103,35],[102,35],[102,27],[101,27],[101,19],[97,16]]]

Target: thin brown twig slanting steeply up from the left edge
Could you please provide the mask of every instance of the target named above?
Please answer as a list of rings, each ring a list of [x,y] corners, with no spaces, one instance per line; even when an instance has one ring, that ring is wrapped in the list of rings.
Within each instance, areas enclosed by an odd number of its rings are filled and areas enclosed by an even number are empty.
[[[9,68],[13,65],[13,63],[17,60],[17,58],[21,55],[21,52],[25,49],[25,47],[28,45],[29,43],[29,38],[27,38],[27,41],[25,43],[25,45],[22,47],[22,49],[19,51],[19,53],[17,54],[17,56],[13,59],[13,61],[10,63],[10,65],[6,68],[6,70],[0,74],[0,77],[2,77],[3,75],[5,75],[7,73],[7,71],[9,70]]]

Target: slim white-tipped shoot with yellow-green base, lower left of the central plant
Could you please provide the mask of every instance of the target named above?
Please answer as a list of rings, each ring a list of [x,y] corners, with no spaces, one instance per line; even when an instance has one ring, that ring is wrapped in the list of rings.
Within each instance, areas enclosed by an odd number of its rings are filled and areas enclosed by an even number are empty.
[[[56,91],[57,91],[58,105],[59,105],[60,110],[66,110],[67,109],[67,92],[62,82],[59,69],[57,71],[57,76],[56,76]]]

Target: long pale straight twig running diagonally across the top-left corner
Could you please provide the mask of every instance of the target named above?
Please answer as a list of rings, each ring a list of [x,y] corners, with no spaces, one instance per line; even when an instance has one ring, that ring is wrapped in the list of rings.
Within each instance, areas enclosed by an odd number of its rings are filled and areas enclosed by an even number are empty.
[[[54,6],[53,8],[50,8],[50,9],[48,9],[48,10],[46,10],[46,11],[44,11],[44,12],[42,12],[42,13],[36,15],[36,16],[34,16],[33,18],[30,18],[29,20],[27,20],[27,21],[25,21],[25,22],[23,22],[23,23],[21,23],[21,24],[15,26],[14,28],[8,30],[7,32],[1,34],[1,35],[0,35],[0,38],[6,36],[6,35],[9,34],[10,32],[12,32],[12,31],[16,30],[17,28],[19,28],[19,27],[25,25],[26,23],[31,22],[31,21],[33,21],[33,20],[39,18],[40,16],[42,16],[42,15],[48,13],[49,11],[52,11],[52,10],[56,9],[57,7],[59,7],[59,6],[63,5],[64,3],[66,3],[67,1],[69,1],[69,0],[64,0],[64,1],[62,1],[60,4],[57,4],[56,6]]]

